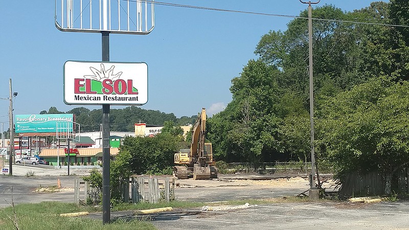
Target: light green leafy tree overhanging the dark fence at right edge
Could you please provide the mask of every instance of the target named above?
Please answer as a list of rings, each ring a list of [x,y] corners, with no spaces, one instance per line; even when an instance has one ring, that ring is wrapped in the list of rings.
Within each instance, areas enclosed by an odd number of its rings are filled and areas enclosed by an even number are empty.
[[[317,122],[318,145],[340,179],[353,171],[380,170],[390,185],[391,175],[408,166],[408,90],[408,82],[374,79],[328,99]]]

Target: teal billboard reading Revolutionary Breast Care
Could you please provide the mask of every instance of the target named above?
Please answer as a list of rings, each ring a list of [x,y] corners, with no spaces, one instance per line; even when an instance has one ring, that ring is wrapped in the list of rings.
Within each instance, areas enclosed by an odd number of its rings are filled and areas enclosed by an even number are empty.
[[[25,114],[15,116],[15,132],[56,132],[57,122],[64,123],[63,127],[73,131],[73,114]],[[61,125],[59,125],[61,127]],[[59,130],[61,131],[61,130]]]

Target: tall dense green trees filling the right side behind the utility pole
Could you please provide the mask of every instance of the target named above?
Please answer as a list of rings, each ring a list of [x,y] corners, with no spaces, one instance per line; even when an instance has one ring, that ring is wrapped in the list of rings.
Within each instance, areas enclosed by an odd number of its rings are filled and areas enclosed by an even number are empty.
[[[409,165],[409,3],[391,0],[313,18],[315,152],[338,178],[390,175]],[[307,17],[307,11],[300,14]],[[373,24],[359,24],[370,22]],[[232,80],[233,100],[208,122],[216,158],[226,162],[310,160],[308,25],[269,31]]]

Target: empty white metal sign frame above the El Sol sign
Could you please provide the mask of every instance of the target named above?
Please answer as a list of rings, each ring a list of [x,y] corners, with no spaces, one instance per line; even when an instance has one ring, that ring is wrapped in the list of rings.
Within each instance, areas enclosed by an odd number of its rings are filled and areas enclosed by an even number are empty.
[[[149,34],[154,0],[55,0],[55,26],[65,32]],[[94,20],[93,20],[94,19]]]

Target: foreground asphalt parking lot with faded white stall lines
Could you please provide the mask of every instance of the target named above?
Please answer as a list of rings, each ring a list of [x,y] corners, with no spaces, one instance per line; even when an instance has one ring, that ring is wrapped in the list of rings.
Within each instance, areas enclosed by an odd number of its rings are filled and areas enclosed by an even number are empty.
[[[231,211],[180,210],[158,215],[152,223],[162,230],[409,229],[409,203],[276,203]]]

